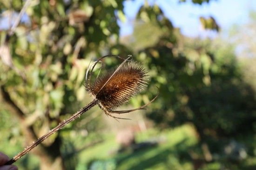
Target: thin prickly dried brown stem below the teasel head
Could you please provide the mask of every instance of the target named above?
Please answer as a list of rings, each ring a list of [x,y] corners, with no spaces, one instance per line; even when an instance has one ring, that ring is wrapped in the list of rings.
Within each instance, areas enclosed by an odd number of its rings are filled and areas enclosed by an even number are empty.
[[[41,142],[43,142],[45,139],[47,139],[47,137],[51,136],[52,134],[54,134],[56,131],[59,131],[62,127],[64,127],[65,125],[67,125],[68,123],[72,122],[74,119],[79,118],[83,113],[85,113],[86,111],[88,111],[89,109],[91,109],[94,105],[97,105],[99,103],[99,101],[97,99],[94,99],[91,103],[89,103],[87,106],[85,106],[84,108],[82,108],[80,111],[76,112],[75,114],[73,114],[70,118],[64,120],[62,123],[60,123],[58,126],[56,126],[54,129],[52,129],[51,131],[49,131],[47,134],[45,134],[44,136],[40,137],[39,139],[37,139],[36,142],[34,142],[33,144],[31,144],[30,146],[28,146],[25,150],[23,150],[22,152],[20,152],[18,155],[16,155],[15,157],[13,157],[11,160],[9,160],[7,163],[5,163],[5,165],[10,165],[13,164],[14,162],[16,162],[18,159],[20,159],[20,157],[24,156],[25,154],[27,154],[27,152],[29,152],[30,150],[32,150],[34,147],[36,147],[38,144],[40,144]]]

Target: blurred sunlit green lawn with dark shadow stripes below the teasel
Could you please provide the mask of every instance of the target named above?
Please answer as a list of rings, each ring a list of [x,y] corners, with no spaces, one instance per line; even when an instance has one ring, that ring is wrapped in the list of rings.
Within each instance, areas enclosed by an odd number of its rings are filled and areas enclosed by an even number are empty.
[[[91,160],[114,160],[118,170],[192,170],[188,150],[197,144],[193,126],[189,124],[157,131],[150,129],[136,135],[136,142],[147,141],[152,138],[161,138],[162,142],[155,147],[132,152],[116,153],[118,144],[114,135],[108,135],[107,140],[96,144],[79,154],[80,164],[89,163]],[[82,170],[84,166],[78,166]],[[98,167],[99,168],[99,167]],[[114,168],[114,167],[113,167]]]

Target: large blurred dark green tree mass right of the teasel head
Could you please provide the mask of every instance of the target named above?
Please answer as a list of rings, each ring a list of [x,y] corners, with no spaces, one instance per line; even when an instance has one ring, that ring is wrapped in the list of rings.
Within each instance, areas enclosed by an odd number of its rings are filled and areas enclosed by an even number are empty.
[[[151,85],[160,88],[148,118],[162,127],[191,122],[202,143],[255,133],[255,92],[244,80],[234,46],[182,36],[157,6],[141,7],[137,20],[127,46],[137,50]]]

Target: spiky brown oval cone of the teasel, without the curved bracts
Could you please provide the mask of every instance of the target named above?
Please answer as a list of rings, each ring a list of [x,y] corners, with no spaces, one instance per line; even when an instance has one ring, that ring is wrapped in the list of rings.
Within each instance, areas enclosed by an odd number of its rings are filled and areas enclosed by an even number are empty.
[[[108,81],[114,72],[115,69],[97,78],[92,83],[94,86],[89,87],[89,91],[101,102],[101,105],[109,108],[127,102],[140,93],[149,81],[144,67],[135,62],[122,65]]]

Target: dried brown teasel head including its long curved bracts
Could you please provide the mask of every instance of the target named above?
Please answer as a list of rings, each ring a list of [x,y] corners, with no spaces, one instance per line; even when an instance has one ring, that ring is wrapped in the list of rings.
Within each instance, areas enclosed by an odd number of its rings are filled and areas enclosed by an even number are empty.
[[[104,56],[101,59],[105,57],[108,56]],[[115,57],[122,59],[119,56]],[[127,103],[130,98],[140,93],[144,87],[147,86],[149,81],[147,71],[142,65],[134,61],[130,61],[129,59],[131,59],[131,57],[132,56],[128,56],[127,59],[123,59],[124,61],[121,63],[121,65],[115,69],[111,69],[105,75],[99,76],[94,80],[93,83],[90,82],[91,74],[95,65],[100,62],[101,59],[88,67],[86,75],[86,77],[88,77],[86,78],[86,89],[93,98],[99,101],[98,105],[100,108],[111,117],[114,117],[112,116],[112,113],[128,113],[143,109],[143,107],[146,106],[143,105],[140,108],[133,110],[114,111],[115,107]],[[90,68],[92,68],[91,71],[89,71]],[[153,100],[151,100],[150,103]]]

